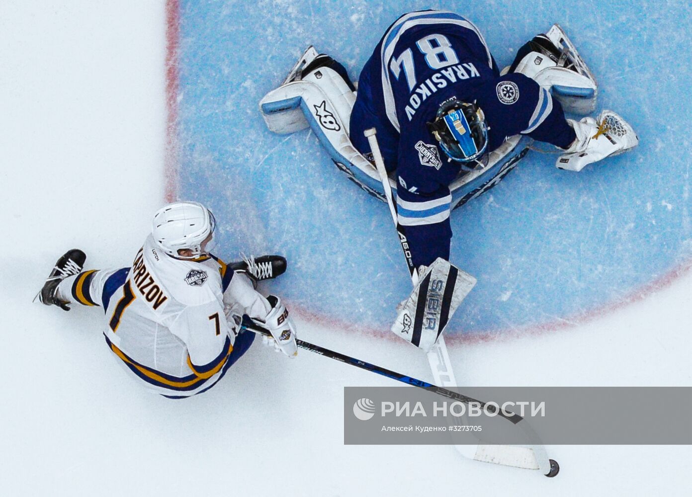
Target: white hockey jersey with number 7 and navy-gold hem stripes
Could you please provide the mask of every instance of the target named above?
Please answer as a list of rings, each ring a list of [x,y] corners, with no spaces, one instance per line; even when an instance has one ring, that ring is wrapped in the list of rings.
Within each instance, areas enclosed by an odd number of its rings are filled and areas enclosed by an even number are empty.
[[[226,321],[224,300],[251,317],[264,318],[271,310],[246,275],[213,256],[170,257],[149,235],[108,303],[104,335],[149,388],[172,397],[194,395],[216,383],[230,364],[239,323]]]

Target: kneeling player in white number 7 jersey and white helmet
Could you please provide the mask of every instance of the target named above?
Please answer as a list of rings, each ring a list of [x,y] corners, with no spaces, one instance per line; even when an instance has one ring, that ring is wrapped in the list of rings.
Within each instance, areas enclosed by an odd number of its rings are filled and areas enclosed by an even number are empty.
[[[242,332],[244,315],[271,332],[277,350],[295,356],[286,307],[255,291],[256,280],[280,275],[286,260],[265,255],[227,265],[207,251],[214,229],[202,204],[164,206],[131,267],[83,271],[86,255],[73,249],[57,261],[39,300],[64,310],[72,303],[102,307],[108,347],[165,397],[190,397],[224,376],[255,337]]]

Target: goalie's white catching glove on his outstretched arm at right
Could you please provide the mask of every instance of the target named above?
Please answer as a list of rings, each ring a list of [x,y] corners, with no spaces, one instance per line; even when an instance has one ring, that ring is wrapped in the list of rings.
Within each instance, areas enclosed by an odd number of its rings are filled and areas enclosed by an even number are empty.
[[[576,140],[558,158],[558,169],[579,172],[585,165],[623,154],[639,143],[635,130],[613,111],[601,112],[598,119],[567,119],[567,123],[574,128]]]

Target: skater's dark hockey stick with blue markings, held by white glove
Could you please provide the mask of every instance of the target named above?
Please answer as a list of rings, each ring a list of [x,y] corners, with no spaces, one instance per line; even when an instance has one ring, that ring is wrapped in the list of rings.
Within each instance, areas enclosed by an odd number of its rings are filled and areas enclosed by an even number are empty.
[[[243,316],[243,323],[242,327],[250,332],[254,332],[260,335],[264,336],[271,336],[271,333],[267,330],[261,327],[260,325],[255,324],[250,318],[247,316]],[[502,410],[498,410],[493,406],[492,404],[486,404],[483,401],[473,399],[473,397],[468,397],[467,395],[463,395],[459,392],[453,392],[452,390],[448,390],[447,388],[442,388],[437,385],[433,385],[432,383],[428,383],[427,381],[422,381],[413,377],[410,377],[406,374],[401,374],[396,371],[388,370],[386,368],[382,368],[381,366],[374,365],[367,363],[365,361],[361,361],[360,359],[355,359],[354,357],[347,356],[345,354],[341,354],[340,352],[334,352],[334,350],[329,350],[325,349],[325,347],[320,347],[319,345],[314,345],[313,343],[305,342],[300,339],[296,339],[295,341],[296,345],[298,345],[299,348],[303,350],[309,350],[310,352],[315,352],[316,354],[320,354],[320,356],[325,356],[328,357],[329,359],[334,359],[336,361],[349,364],[352,366],[355,366],[356,368],[361,368],[362,370],[366,371],[372,371],[376,374],[381,374],[383,377],[388,377],[397,381],[401,381],[401,383],[406,383],[407,385],[411,386],[416,386],[418,388],[423,388],[424,390],[428,390],[429,392],[434,392],[437,393],[437,395],[441,395],[442,397],[446,397],[448,399],[455,399],[460,402],[463,402],[464,404],[469,404],[471,402],[477,403],[480,405],[480,408],[487,408],[489,412],[491,413],[497,413],[498,416],[503,417],[504,419],[507,419],[507,421],[511,422],[515,426],[518,426],[521,431],[526,435],[527,440],[538,440],[538,435],[534,431],[533,428],[525,421],[523,417],[521,417],[518,414],[511,414],[509,415],[508,413],[504,413]],[[473,445],[471,445],[473,447]],[[522,447],[517,447],[516,449],[522,449]],[[484,462],[495,462],[497,464],[503,464],[501,460],[498,460],[496,456],[487,454],[487,458],[484,459],[477,459],[477,460],[482,460]],[[552,478],[553,476],[556,476],[558,471],[560,471],[560,466],[558,463],[554,460],[549,460],[549,468],[547,470],[543,467],[537,467],[534,469],[541,469],[543,470],[543,474],[545,476]],[[547,472],[546,472],[547,471]]]

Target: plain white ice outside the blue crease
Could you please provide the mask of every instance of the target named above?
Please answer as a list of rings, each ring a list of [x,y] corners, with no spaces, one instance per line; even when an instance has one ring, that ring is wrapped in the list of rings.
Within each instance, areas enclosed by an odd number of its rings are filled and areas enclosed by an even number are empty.
[[[689,491],[689,446],[551,446],[554,479],[450,446],[345,446],[343,387],[392,383],[308,352],[291,361],[255,345],[206,394],[170,401],[125,376],[100,309],[32,304],[66,249],[84,249],[92,268],[125,266],[147,234],[163,204],[164,57],[163,1],[0,3],[0,495]],[[457,379],[691,386],[691,283],[586,325],[455,345]],[[298,325],[308,341],[429,377],[405,343]]]

